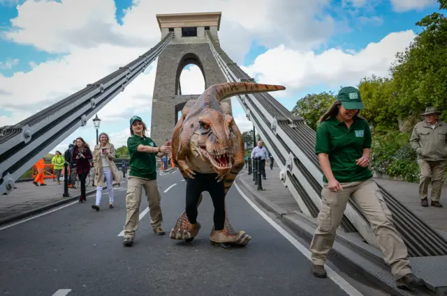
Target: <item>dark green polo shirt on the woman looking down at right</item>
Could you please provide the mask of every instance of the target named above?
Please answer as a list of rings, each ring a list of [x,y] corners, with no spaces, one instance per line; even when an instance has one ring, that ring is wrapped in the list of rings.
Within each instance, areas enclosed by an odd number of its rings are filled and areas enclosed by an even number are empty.
[[[348,128],[346,123],[330,118],[316,128],[315,153],[329,155],[330,167],[338,182],[361,182],[372,178],[368,166],[356,165],[364,148],[371,148],[371,130],[365,119],[354,118]],[[328,179],[323,176],[323,181],[328,182]]]

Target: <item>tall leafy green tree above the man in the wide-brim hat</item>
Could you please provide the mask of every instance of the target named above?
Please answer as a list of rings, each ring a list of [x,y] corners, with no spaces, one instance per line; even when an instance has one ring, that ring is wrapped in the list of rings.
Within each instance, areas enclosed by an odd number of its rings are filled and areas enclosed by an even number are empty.
[[[447,5],[440,0],[441,8]],[[423,28],[405,52],[397,54],[390,71],[396,86],[397,113],[420,114],[434,106],[447,116],[447,19],[432,13],[416,23]]]

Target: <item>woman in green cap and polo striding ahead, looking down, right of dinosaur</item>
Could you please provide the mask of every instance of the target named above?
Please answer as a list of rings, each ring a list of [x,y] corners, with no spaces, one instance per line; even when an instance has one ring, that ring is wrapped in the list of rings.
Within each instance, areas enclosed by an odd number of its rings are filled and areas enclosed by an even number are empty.
[[[358,116],[363,109],[356,88],[344,87],[330,109],[321,116],[316,129],[315,153],[323,171],[321,208],[314,233],[312,273],[326,277],[324,263],[334,244],[349,198],[365,213],[385,262],[397,279],[399,288],[413,288],[423,281],[411,273],[406,246],[392,222],[379,187],[369,169],[371,132],[367,120]]]

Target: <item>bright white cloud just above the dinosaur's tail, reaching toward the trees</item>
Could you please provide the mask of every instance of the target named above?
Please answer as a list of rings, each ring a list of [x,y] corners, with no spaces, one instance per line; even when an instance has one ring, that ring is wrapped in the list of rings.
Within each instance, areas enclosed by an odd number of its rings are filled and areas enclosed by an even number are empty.
[[[277,97],[293,96],[295,91],[321,84],[353,85],[365,76],[388,76],[395,54],[403,51],[415,36],[411,30],[390,33],[380,42],[369,43],[354,54],[341,49],[328,49],[321,54],[295,52],[280,46],[258,56],[254,64],[244,70],[260,83],[286,86],[286,91],[274,94]]]

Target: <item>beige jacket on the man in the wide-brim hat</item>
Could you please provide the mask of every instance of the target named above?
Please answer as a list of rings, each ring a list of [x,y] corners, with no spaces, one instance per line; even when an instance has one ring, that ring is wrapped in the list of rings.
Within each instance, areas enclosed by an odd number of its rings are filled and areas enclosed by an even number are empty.
[[[418,159],[439,162],[447,159],[447,123],[438,120],[434,129],[423,120],[413,128],[410,144]]]

